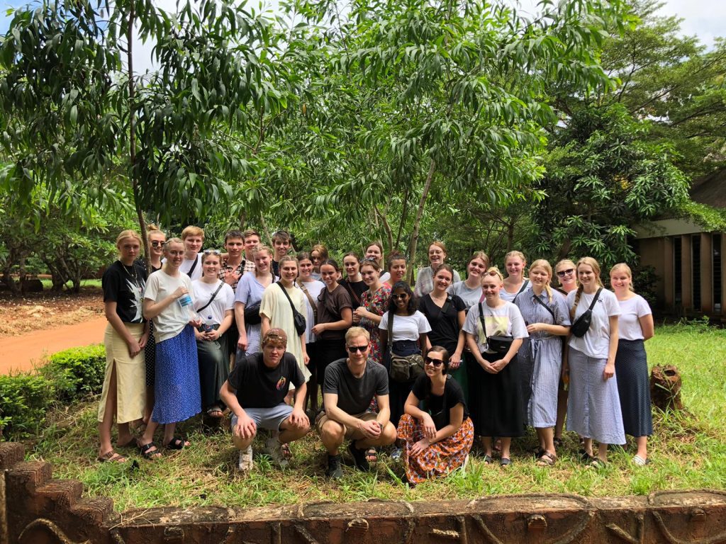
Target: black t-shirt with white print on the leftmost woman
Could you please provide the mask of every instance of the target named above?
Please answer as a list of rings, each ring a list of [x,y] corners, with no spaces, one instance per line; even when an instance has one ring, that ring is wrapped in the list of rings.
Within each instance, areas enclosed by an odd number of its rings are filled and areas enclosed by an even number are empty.
[[[115,302],[123,323],[145,323],[144,289],[146,269],[139,263],[125,266],[120,260],[110,265],[101,279],[103,302]]]

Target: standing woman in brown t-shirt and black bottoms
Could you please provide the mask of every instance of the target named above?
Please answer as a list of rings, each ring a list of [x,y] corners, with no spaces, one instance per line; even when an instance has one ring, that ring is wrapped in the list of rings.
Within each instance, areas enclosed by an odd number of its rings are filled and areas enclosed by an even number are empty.
[[[340,267],[333,259],[320,265],[320,276],[325,284],[318,295],[318,322],[313,327],[317,335],[317,376],[318,382],[325,380],[325,368],[334,360],[347,357],[346,331],[353,324],[353,305],[346,289],[338,284]],[[317,384],[310,389],[311,397],[317,397]]]

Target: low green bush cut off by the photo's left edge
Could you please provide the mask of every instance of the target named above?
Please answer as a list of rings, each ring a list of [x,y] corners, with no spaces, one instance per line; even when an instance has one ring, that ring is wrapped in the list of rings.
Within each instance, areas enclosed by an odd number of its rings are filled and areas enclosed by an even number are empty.
[[[0,376],[0,425],[4,439],[37,433],[54,400],[54,384],[44,376]]]

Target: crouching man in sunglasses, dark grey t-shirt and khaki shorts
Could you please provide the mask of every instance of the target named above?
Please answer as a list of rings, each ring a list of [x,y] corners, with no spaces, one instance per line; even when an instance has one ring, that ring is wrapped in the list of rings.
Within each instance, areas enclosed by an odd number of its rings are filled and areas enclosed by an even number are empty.
[[[327,450],[327,475],[343,476],[340,468],[340,445],[348,445],[356,466],[370,469],[366,450],[373,446],[393,444],[396,428],[388,419],[388,372],[386,367],[369,361],[370,335],[362,327],[346,332],[348,358],[338,359],[325,369],[322,399],[325,412],[317,416],[316,427]],[[378,413],[367,412],[375,395]]]

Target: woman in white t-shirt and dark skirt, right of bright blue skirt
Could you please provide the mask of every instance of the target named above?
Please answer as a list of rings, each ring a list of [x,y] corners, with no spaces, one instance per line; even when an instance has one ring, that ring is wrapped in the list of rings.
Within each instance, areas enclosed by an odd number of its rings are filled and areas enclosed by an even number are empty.
[[[194,309],[202,320],[195,329],[199,380],[202,387],[202,410],[211,418],[224,415],[219,395],[229,377],[229,349],[227,331],[234,315],[234,291],[226,281],[219,279],[220,252],[202,253],[202,277],[192,281],[195,293]]]

